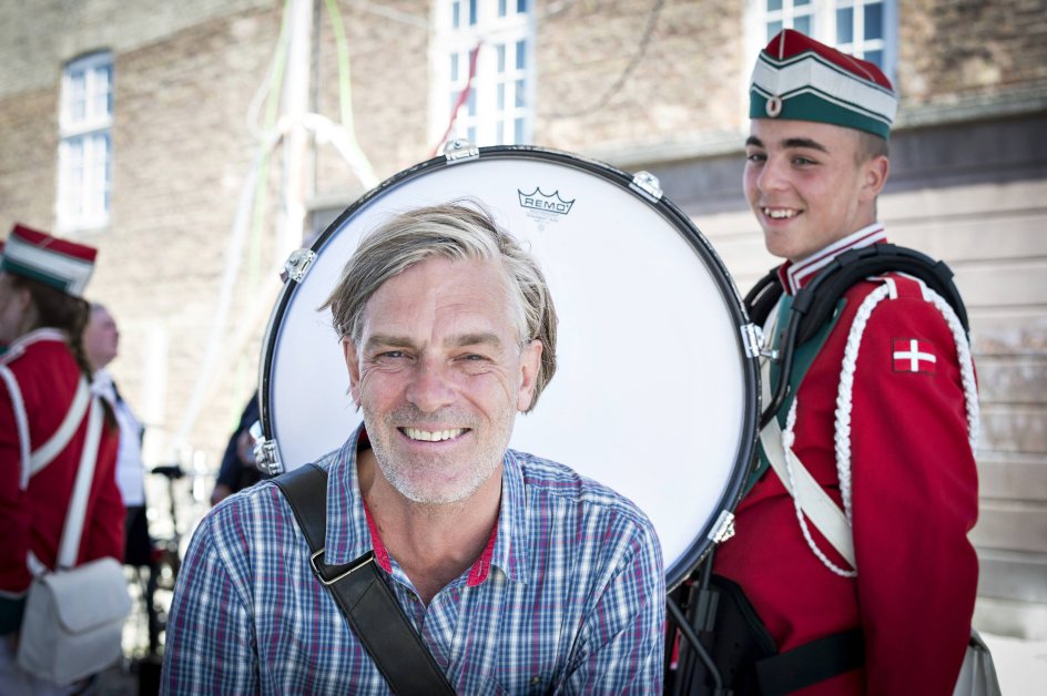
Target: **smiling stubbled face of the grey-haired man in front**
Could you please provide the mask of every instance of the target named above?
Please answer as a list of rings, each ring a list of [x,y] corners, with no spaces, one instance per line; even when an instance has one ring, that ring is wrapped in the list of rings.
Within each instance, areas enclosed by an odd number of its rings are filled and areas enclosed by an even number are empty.
[[[501,463],[531,401],[541,342],[520,347],[496,262],[431,258],[387,280],[343,341],[384,477],[420,503],[467,499]]]

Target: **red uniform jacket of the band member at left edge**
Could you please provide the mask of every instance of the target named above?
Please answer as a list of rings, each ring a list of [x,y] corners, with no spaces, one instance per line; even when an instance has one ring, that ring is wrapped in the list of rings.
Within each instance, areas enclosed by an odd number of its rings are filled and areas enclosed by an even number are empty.
[[[58,430],[81,376],[62,335],[32,331],[14,341],[0,359],[18,382],[29,424],[31,449]],[[27,553],[53,567],[87,437],[83,418],[65,449],[22,488],[22,457],[16,410],[8,383],[0,379],[0,598],[18,600],[29,587]],[[119,431],[102,427],[78,563],[102,556],[123,557],[124,508],[116,488]]]

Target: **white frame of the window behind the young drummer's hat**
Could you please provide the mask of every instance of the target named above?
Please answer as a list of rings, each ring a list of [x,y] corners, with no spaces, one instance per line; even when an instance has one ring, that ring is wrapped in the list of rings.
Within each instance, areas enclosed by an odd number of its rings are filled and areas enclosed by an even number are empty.
[[[749,0],[748,21],[746,21],[746,55],[749,55],[749,65],[756,61],[756,55],[763,49],[770,37],[768,35],[768,22],[772,19],[781,19],[785,29],[795,29],[793,20],[797,16],[810,14],[812,20],[811,38],[821,41],[827,45],[838,48],[844,53],[865,58],[867,51],[883,51],[883,64],[881,69],[892,83],[896,83],[897,50],[898,50],[898,12],[897,0],[810,0],[806,4],[796,4],[796,0],[782,0],[782,9],[774,12],[768,12],[766,0]],[[857,31],[862,29],[864,13],[862,8],[866,4],[883,6],[883,37],[873,41],[865,41]],[[836,10],[854,8],[854,14],[857,19],[857,28],[851,43],[836,43]],[[749,74],[745,74],[745,92],[749,89]]]

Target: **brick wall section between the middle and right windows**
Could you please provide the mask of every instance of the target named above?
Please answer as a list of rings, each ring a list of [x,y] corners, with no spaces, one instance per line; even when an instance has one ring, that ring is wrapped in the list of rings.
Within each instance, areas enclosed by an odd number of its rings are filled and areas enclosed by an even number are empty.
[[[743,25],[741,3],[557,7],[562,10],[539,10],[536,144],[612,150],[742,126],[740,75],[748,66],[734,40]]]

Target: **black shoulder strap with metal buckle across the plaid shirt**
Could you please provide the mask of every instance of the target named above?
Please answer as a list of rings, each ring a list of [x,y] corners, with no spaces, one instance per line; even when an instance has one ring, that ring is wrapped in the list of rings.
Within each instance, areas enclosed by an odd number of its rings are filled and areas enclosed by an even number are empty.
[[[378,576],[374,552],[368,551],[346,565],[324,564],[327,472],[315,464],[307,464],[273,481],[283,491],[309,543],[313,573],[331,591],[393,692],[403,696],[453,695],[454,687],[410,625],[393,592]]]

